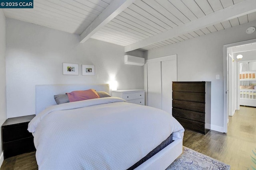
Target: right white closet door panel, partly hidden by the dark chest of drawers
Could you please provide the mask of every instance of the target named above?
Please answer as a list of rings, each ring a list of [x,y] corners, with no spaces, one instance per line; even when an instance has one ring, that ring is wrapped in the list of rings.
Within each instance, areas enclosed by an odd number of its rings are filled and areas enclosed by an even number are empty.
[[[177,81],[176,60],[162,61],[162,110],[172,113],[172,82]]]

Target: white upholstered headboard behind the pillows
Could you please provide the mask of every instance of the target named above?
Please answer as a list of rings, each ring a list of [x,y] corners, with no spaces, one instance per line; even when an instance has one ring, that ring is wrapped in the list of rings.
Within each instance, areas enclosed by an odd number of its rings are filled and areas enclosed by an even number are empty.
[[[46,107],[56,105],[54,95],[65,94],[74,90],[95,89],[109,93],[109,84],[52,84],[36,85],[36,115]]]

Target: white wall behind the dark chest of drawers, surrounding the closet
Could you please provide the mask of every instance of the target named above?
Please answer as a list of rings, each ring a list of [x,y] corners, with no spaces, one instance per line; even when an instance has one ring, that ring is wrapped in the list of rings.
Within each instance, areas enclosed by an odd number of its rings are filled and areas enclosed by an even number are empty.
[[[211,129],[223,132],[223,45],[255,39],[246,29],[256,22],[148,51],[146,59],[177,54],[178,81],[211,81]],[[216,80],[216,74],[220,79]]]

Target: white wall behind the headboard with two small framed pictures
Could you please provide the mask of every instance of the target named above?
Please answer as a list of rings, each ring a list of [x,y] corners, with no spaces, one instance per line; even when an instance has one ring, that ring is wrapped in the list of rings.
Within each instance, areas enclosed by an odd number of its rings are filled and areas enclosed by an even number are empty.
[[[35,114],[36,84],[118,82],[117,89],[144,89],[143,66],[124,64],[124,47],[6,18],[7,116]],[[79,75],[62,75],[62,63],[79,64]],[[81,64],[95,65],[82,76]]]

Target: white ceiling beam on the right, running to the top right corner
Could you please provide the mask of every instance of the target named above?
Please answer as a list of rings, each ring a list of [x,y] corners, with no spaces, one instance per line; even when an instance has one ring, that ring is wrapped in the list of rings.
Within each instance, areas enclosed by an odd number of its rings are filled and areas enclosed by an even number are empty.
[[[252,12],[256,12],[256,0],[244,0],[222,10],[218,10],[211,14],[208,14],[202,18],[198,18],[194,21],[190,21],[178,27],[171,28],[167,31],[161,32],[157,35],[153,35],[136,43],[127,45],[124,47],[124,51],[133,51],[146,47],[148,45],[164,41],[185,33],[196,31],[226,20],[230,20],[239,16],[243,16]]]

